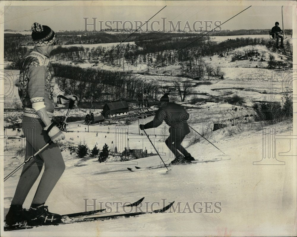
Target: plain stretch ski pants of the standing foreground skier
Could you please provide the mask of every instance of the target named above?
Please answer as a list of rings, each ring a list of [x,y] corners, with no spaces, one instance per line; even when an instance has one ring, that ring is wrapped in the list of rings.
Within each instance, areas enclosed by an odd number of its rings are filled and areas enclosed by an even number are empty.
[[[41,120],[24,116],[21,124],[26,137],[25,157],[30,157],[43,147],[50,137],[43,130],[45,125]],[[24,165],[18,181],[12,205],[23,205],[31,187],[41,173],[44,163],[44,172],[37,187],[32,204],[45,203],[50,192],[61,177],[65,164],[58,144],[50,144],[35,158]]]

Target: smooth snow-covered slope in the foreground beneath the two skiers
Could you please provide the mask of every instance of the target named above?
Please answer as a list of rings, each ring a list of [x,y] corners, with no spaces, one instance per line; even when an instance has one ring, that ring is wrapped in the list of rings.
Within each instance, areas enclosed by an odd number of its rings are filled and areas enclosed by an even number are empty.
[[[286,123],[277,125],[277,136],[288,135],[290,133],[288,126]],[[221,131],[218,130],[214,132],[216,140],[211,141],[226,155],[205,140],[190,146],[188,150],[201,161],[219,161],[171,166],[171,171],[165,175],[157,172],[160,169],[140,172],[127,170],[127,167],[159,165],[160,159],[157,156],[139,159],[137,163],[134,161],[99,163],[97,159],[78,162],[79,158],[71,157],[69,151],[65,150],[62,154],[67,168],[46,202],[50,211],[60,214],[83,211],[83,198],[89,198],[89,201],[91,198],[97,198],[98,202],[106,203],[133,202],[145,197],[146,202],[160,202],[160,207],[162,207],[161,198],[165,198],[166,203],[175,201],[174,208],[178,210],[177,203],[179,203],[180,213],[172,210],[173,213],[146,214],[128,219],[43,226],[19,230],[18,233],[28,235],[33,232],[50,231],[51,236],[61,236],[64,232],[80,236],[109,236],[116,233],[121,235],[120,233],[127,231],[129,226],[131,231],[129,236],[139,236],[140,232],[149,236],[205,234],[259,236],[264,231],[268,235],[283,233],[291,235],[294,231],[291,226],[295,210],[286,207],[295,201],[294,158],[288,156],[290,155],[288,153],[285,159],[280,156],[279,152],[290,150],[289,144],[280,139],[276,142],[276,158],[285,160],[286,165],[253,165],[253,162],[262,159],[262,131],[244,132],[234,136],[224,136],[222,139]],[[100,139],[103,139],[102,135]],[[10,164],[12,157],[8,154],[15,144],[20,142],[7,140],[4,176],[14,168]],[[168,160],[166,161],[168,163],[172,158],[167,159],[168,153],[166,154],[163,158]],[[19,175],[20,172],[5,182],[4,215],[8,211]],[[30,206],[36,184],[24,203],[26,208]],[[202,202],[202,206],[197,205],[197,202]],[[219,202],[217,205],[221,207],[221,211],[207,213],[219,211],[213,205],[205,204],[207,202]],[[201,213],[193,211],[193,205],[196,211]],[[206,208],[205,205],[211,208]],[[155,207],[157,206],[155,204]],[[199,211],[199,207],[202,211]],[[274,225],[271,226],[271,223]],[[241,231],[234,232],[234,229]],[[13,234],[14,232],[5,233],[5,236]]]

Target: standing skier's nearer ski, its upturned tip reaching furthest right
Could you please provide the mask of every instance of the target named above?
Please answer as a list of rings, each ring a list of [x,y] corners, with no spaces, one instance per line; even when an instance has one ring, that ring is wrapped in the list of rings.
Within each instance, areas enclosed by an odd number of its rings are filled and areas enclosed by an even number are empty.
[[[168,209],[170,209],[170,207],[173,205],[174,201],[169,203],[167,206],[161,208],[161,209],[157,209],[157,210],[153,210],[151,212],[144,212],[144,211],[137,211],[137,209],[134,212],[131,213],[126,213],[126,212],[122,212],[119,214],[115,214],[115,212],[113,213],[109,213],[109,214],[94,214],[90,217],[80,217],[80,218],[75,218],[75,219],[70,219],[70,220],[64,220],[64,222],[61,223],[56,223],[53,225],[64,225],[64,224],[73,224],[73,223],[78,223],[78,222],[93,222],[93,221],[104,221],[104,220],[108,220],[108,219],[118,219],[118,218],[128,218],[128,217],[137,217],[139,215],[142,214],[153,214],[153,213],[162,213],[167,211]],[[21,230],[21,229],[32,229],[32,228],[37,228],[40,226],[44,226],[44,225],[38,225],[38,226],[27,226],[26,224],[23,226],[20,225],[15,225],[15,226],[4,226],[4,231],[10,231],[10,230]]]

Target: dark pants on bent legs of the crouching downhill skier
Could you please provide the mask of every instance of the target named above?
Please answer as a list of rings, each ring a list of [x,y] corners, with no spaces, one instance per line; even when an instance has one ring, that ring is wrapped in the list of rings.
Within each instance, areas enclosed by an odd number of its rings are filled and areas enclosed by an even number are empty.
[[[179,152],[184,156],[190,155],[190,153],[181,145],[186,135],[187,134],[183,133],[182,128],[170,128],[170,136],[165,140],[165,144],[173,152],[176,158],[180,156]]]

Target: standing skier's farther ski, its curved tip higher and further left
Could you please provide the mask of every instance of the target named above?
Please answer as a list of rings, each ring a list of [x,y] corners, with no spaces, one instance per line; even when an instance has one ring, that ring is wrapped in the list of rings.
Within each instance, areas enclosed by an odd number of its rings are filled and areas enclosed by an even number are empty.
[[[131,204],[127,204],[123,207],[134,207],[134,206],[139,206],[140,203],[142,203],[142,201],[144,200],[143,198],[140,198],[138,201],[131,203]],[[88,217],[88,216],[92,216],[92,215],[96,215],[96,214],[104,214],[105,209],[98,209],[98,210],[93,210],[93,211],[83,211],[83,212],[77,212],[77,213],[69,213],[69,214],[64,214],[61,215],[62,219],[75,219],[75,218],[84,218],[84,217]],[[30,228],[30,226],[27,227],[26,222],[22,222],[16,225],[12,225],[12,226],[4,226],[4,230],[10,230],[10,229],[26,229],[26,228]],[[33,227],[32,227],[33,228]]]

